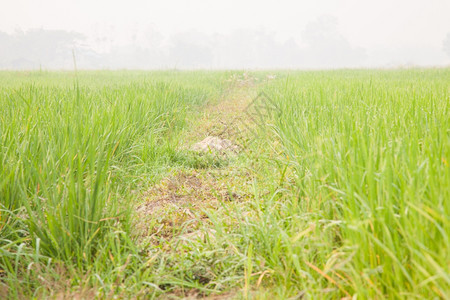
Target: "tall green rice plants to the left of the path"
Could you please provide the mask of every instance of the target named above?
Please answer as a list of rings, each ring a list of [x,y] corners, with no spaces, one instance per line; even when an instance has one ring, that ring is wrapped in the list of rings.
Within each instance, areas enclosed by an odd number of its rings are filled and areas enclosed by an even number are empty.
[[[10,286],[23,286],[33,253],[73,274],[136,251],[130,190],[167,168],[187,113],[214,89],[135,75],[85,72],[74,85],[72,73],[0,74],[0,270]]]

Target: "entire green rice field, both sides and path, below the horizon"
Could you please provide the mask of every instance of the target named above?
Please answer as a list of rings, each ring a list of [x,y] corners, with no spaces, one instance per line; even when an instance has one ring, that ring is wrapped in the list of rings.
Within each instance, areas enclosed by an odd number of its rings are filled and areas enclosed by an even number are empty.
[[[446,299],[449,164],[450,69],[0,72],[0,298]]]

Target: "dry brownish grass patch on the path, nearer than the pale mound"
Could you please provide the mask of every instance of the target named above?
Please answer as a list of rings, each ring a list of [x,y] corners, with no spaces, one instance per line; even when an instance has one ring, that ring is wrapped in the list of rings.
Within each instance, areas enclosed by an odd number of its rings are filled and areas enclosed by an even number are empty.
[[[201,236],[197,230],[201,223],[208,222],[205,210],[249,197],[230,190],[233,183],[227,174],[223,170],[184,170],[163,179],[143,195],[144,201],[136,209],[138,234],[167,240],[174,237],[174,229],[183,227],[185,237]],[[146,226],[155,219],[155,226]]]

